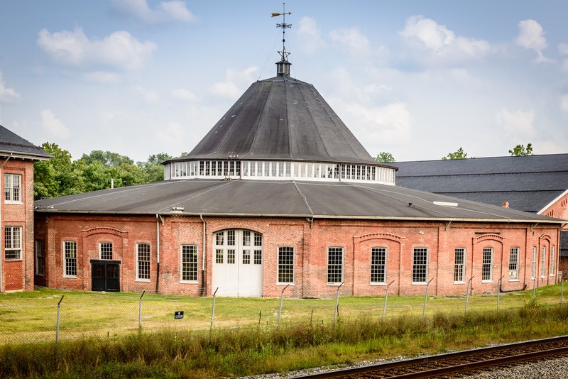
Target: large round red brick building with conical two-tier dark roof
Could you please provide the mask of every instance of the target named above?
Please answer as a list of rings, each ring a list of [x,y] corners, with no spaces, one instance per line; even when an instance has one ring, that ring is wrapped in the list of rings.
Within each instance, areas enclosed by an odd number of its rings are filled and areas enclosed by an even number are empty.
[[[163,182],[35,202],[36,282],[256,297],[556,282],[562,220],[395,186],[281,54]]]

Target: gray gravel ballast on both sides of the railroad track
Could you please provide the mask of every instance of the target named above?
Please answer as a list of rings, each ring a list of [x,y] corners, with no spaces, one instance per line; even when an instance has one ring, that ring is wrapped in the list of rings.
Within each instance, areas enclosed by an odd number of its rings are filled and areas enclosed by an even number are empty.
[[[398,359],[405,359],[400,357]],[[392,361],[396,361],[394,359]],[[307,370],[294,370],[285,374],[264,374],[256,376],[246,376],[241,379],[290,379],[302,378],[305,375],[314,373],[323,373],[326,371],[338,370],[341,368],[353,368],[368,366],[376,363],[384,363],[386,361],[363,361],[354,363],[349,366],[342,367],[318,367]],[[568,356],[560,356],[559,358],[548,359],[547,361],[538,361],[532,363],[523,363],[518,366],[508,368],[496,368],[491,371],[479,371],[472,375],[461,376],[465,379],[491,378],[491,379],[566,379],[568,378]]]

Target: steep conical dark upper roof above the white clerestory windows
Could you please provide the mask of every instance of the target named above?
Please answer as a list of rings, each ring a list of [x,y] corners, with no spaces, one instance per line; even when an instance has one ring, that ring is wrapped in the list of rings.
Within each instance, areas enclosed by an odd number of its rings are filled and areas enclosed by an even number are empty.
[[[312,84],[260,80],[236,101],[191,153],[176,160],[307,160],[381,165]]]

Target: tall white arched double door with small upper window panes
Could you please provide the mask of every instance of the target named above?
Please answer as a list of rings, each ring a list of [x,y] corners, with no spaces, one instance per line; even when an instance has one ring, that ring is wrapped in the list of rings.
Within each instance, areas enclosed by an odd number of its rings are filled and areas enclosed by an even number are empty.
[[[213,236],[213,287],[217,296],[262,296],[262,234],[244,229]]]

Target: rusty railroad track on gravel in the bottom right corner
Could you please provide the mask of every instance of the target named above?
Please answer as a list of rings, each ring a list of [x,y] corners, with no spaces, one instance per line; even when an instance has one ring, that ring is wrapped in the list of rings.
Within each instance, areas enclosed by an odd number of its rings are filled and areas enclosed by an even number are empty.
[[[305,378],[435,378],[437,376],[447,378],[455,373],[510,366],[519,361],[544,359],[558,355],[568,355],[568,336],[346,368],[307,375]]]

